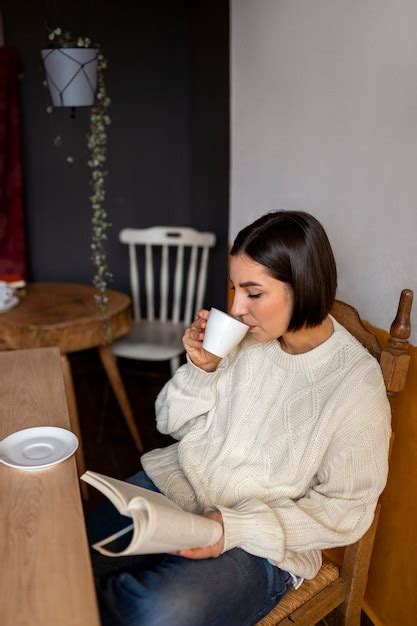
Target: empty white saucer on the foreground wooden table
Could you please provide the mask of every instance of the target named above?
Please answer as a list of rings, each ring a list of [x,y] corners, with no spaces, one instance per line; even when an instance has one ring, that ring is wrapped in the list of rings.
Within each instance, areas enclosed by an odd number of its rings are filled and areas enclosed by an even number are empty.
[[[65,461],[77,448],[77,437],[65,428],[25,428],[0,442],[0,462],[19,469],[42,469]]]

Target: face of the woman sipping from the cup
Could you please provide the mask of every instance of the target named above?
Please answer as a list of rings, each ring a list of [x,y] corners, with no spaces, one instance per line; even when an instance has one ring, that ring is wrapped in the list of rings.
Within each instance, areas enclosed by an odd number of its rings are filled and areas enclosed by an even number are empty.
[[[282,337],[292,315],[292,292],[287,283],[272,278],[266,267],[245,254],[231,257],[230,279],[234,288],[231,314],[249,324],[257,341]]]

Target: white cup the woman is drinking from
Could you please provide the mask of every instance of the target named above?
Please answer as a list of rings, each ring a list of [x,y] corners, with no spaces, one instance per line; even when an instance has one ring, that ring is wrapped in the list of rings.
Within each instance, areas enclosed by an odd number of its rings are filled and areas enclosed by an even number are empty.
[[[250,326],[235,317],[212,307],[205,329],[203,348],[223,358],[242,341],[249,328]]]

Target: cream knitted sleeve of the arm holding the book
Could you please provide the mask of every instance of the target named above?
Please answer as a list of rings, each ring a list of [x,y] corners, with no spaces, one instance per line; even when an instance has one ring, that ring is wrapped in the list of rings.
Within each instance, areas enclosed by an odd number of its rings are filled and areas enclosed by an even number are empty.
[[[359,411],[368,419],[355,419]],[[233,508],[216,507],[224,521],[224,551],[240,547],[291,571],[292,562],[309,554],[317,560],[317,550],[354,543],[366,532],[388,473],[385,393],[360,398],[343,424],[303,497],[250,498]]]

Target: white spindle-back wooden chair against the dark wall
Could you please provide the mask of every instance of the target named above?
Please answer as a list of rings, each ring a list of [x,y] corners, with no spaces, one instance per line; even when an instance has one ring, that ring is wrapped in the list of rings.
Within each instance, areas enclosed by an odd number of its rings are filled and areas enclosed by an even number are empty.
[[[113,343],[113,354],[169,360],[173,374],[184,352],[184,329],[203,305],[209,249],[216,236],[192,228],[154,226],[125,228],[119,237],[129,246],[135,326]]]

